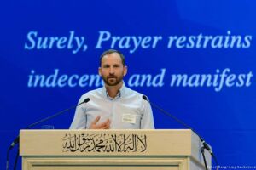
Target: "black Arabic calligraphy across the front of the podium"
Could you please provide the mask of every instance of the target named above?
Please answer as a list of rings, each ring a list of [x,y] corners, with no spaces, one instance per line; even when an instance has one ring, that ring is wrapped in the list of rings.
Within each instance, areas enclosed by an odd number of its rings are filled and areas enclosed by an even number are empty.
[[[144,152],[145,134],[87,134],[66,133],[62,139],[63,152]]]

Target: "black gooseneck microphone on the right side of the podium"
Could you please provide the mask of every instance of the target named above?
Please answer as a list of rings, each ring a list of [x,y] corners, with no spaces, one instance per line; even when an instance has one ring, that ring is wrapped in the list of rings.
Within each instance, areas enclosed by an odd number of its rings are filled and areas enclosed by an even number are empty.
[[[156,109],[158,109],[160,112],[166,114],[166,116],[172,117],[172,119],[174,119],[176,122],[182,124],[183,127],[189,128],[192,132],[194,132],[194,133],[199,137],[199,139],[201,140],[201,144],[203,145],[203,146],[201,147],[201,153],[202,153],[202,155],[204,156],[204,154],[203,154],[203,150],[204,150],[204,149],[208,150],[209,153],[212,155],[213,159],[215,160],[215,162],[218,164],[218,161],[217,161],[216,157],[214,156],[211,147],[210,147],[209,144],[207,144],[207,142],[201,137],[201,135],[199,135],[199,133],[197,133],[192,127],[190,127],[189,125],[187,125],[185,122],[179,120],[176,116],[173,116],[171,113],[169,113],[169,112],[163,110],[160,106],[155,105],[154,103],[150,102],[150,101],[148,100],[148,97],[147,97],[147,96],[143,95],[143,99],[146,100],[146,101],[148,101],[148,103],[149,103],[150,105],[153,105],[153,106],[154,106]],[[204,161],[205,161],[205,165],[206,165],[206,169],[207,169],[207,164],[206,164],[205,156],[204,156]],[[218,167],[218,166],[217,166],[217,167]]]

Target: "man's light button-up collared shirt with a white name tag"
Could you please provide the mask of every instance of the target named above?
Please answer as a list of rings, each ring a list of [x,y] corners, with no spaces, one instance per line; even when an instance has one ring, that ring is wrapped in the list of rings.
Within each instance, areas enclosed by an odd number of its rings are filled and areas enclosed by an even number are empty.
[[[151,106],[139,94],[123,83],[117,96],[108,96],[105,87],[83,94],[79,103],[89,98],[88,103],[76,109],[70,129],[89,128],[96,116],[101,116],[98,123],[110,120],[111,129],[154,129],[154,118]]]

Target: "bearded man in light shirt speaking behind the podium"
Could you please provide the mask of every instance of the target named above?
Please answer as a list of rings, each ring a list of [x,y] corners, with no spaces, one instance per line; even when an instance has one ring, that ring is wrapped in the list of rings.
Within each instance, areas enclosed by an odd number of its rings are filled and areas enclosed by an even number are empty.
[[[125,87],[127,74],[125,57],[117,50],[109,49],[100,58],[99,75],[104,86],[83,94],[76,109],[70,129],[152,129],[154,119],[148,101]]]

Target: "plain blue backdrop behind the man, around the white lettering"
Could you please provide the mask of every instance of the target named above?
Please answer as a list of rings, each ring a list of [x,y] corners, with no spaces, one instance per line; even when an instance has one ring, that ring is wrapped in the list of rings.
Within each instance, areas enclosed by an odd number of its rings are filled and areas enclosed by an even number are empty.
[[[175,73],[206,74],[230,68],[232,73],[255,73],[255,44],[250,48],[166,48],[168,36],[252,35],[256,31],[255,1],[2,1],[0,3],[0,168],[6,150],[19,130],[45,116],[76,105],[81,94],[96,87],[28,88],[31,70],[50,75],[96,74],[99,56],[110,47],[96,49],[98,31],[117,36],[162,36],[156,48],[138,48],[135,53],[119,49],[132,74],[158,74],[166,68],[162,88],[133,88],[170,111],[203,136],[221,166],[255,166],[256,85],[243,88],[170,87]],[[84,36],[88,50],[72,54],[67,49],[26,50],[27,33],[39,36],[67,36],[75,31]],[[127,79],[126,79],[127,81]],[[73,112],[46,124],[68,128]],[[183,128],[154,110],[156,128]],[[40,128],[40,126],[35,127]],[[15,157],[12,150],[11,164]],[[20,167],[18,168],[20,169]]]

